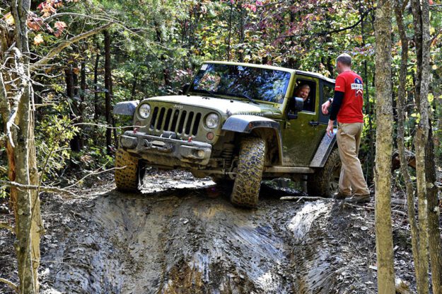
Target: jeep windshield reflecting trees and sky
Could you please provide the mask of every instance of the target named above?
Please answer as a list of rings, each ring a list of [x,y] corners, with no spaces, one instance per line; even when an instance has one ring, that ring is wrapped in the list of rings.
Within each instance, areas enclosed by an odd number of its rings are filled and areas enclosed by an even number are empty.
[[[282,103],[290,73],[231,64],[203,64],[190,85],[192,93]]]

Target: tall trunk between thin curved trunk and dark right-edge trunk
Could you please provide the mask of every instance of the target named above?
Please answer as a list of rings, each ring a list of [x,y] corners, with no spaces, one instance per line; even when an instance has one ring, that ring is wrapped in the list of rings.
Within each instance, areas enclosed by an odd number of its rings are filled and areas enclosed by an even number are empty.
[[[419,215],[419,266],[417,267],[417,291],[419,294],[429,293],[429,234],[428,234],[428,202],[426,199],[425,149],[429,134],[429,7],[423,1],[422,9],[419,0],[412,0],[414,19],[414,43],[416,44],[417,70],[415,98],[420,114],[414,145],[416,149],[416,180],[417,202]],[[427,31],[428,30],[428,31]]]

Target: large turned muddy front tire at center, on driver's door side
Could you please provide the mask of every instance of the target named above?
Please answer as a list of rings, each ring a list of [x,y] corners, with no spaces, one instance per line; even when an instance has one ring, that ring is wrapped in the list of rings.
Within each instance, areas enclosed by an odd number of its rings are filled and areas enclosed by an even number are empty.
[[[265,152],[265,140],[261,138],[247,137],[241,141],[238,169],[231,194],[233,204],[244,208],[257,206]]]

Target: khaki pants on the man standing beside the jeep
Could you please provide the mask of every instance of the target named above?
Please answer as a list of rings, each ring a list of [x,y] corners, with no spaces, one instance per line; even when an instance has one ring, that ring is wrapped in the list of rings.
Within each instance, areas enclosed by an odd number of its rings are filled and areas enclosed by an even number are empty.
[[[342,162],[339,191],[345,196],[350,196],[351,191],[356,196],[370,193],[358,158],[363,126],[363,123],[338,123],[336,139]]]

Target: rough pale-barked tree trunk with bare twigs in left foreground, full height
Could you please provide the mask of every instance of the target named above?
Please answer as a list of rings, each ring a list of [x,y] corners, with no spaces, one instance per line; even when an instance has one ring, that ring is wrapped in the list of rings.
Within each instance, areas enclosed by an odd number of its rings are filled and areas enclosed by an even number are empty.
[[[26,26],[27,15],[30,9],[30,1],[12,1],[11,12],[16,24],[15,41],[13,48],[16,63],[17,91],[10,93],[9,98],[13,101],[10,118],[14,118],[15,125],[11,128],[11,139],[14,147],[9,149],[9,174],[15,174],[15,181],[23,185],[38,183],[37,166],[35,160],[34,144],[34,117],[33,113],[33,89],[30,84],[29,72],[29,40],[28,27]],[[11,169],[14,169],[11,172]],[[16,237],[15,244],[18,261],[18,278],[20,280],[20,293],[37,293],[38,276],[37,268],[40,264],[40,200],[37,191],[23,189],[15,190],[16,202],[13,203],[16,212]]]

